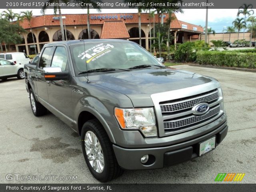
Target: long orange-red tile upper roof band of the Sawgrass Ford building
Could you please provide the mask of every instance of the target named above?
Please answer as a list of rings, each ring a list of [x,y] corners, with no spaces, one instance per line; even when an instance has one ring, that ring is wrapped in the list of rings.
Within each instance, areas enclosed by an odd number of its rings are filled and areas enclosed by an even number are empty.
[[[166,17],[164,18],[164,22],[167,22],[167,19],[169,18],[168,14],[164,14]],[[42,16],[34,16],[31,20],[31,26],[32,28],[37,27],[44,27],[44,26],[59,26],[60,21],[59,20],[53,20],[52,18],[56,15],[42,15]],[[66,19],[64,19],[64,23],[66,25],[87,25],[87,14],[63,14],[62,16],[66,16]],[[98,18],[98,16],[105,16],[101,19],[92,19],[92,18]],[[106,16],[117,16],[117,18],[108,18]],[[130,18],[124,19],[124,16],[130,16]],[[149,14],[148,13],[141,13],[141,23],[153,23],[153,18],[150,18],[149,20]],[[186,24],[188,26],[188,30],[193,30],[193,26],[198,28],[199,32],[204,32],[203,28],[197,25],[193,25],[187,22],[179,21],[175,14],[172,14],[172,21],[170,28],[173,29],[181,29],[182,24]],[[161,19],[160,19],[161,20]],[[90,14],[90,24],[96,25],[96,24],[104,24],[106,21],[123,21],[124,24],[133,24],[138,23],[138,14],[137,13],[126,13],[126,14]],[[155,14],[155,22],[158,22],[158,15]],[[115,24],[115,22],[113,23]],[[24,29],[29,29],[29,24],[27,20],[20,21],[20,25]]]

